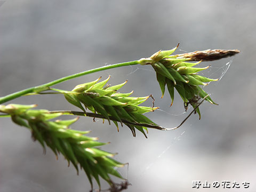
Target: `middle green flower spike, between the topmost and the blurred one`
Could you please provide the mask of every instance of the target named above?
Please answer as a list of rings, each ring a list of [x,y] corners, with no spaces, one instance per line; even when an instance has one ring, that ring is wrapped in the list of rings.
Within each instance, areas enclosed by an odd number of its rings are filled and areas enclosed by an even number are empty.
[[[108,120],[109,124],[110,121],[113,121],[117,127],[117,131],[119,131],[117,122],[120,122],[121,126],[125,124],[129,127],[134,137],[136,136],[135,130],[137,129],[147,138],[147,127],[140,124],[157,124],[142,114],[154,111],[158,109],[158,107],[139,106],[146,101],[149,96],[129,97],[133,91],[130,93],[118,93],[117,90],[127,81],[119,85],[105,86],[109,78],[110,76],[102,82],[99,82],[100,78],[98,78],[93,82],[77,85],[72,91],[58,91],[63,93],[71,104],[81,108],[84,112],[85,109],[89,109],[92,113],[102,115]],[[85,109],[82,107],[81,103],[84,105]],[[113,120],[113,118],[115,120]]]

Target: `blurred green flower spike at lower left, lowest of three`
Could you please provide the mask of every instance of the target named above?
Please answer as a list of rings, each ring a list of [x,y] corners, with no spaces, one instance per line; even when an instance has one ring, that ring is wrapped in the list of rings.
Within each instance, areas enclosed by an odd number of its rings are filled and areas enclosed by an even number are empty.
[[[83,169],[93,188],[94,178],[99,187],[99,177],[106,180],[110,185],[113,181],[110,175],[118,178],[123,177],[116,171],[116,167],[123,167],[123,163],[115,161],[115,155],[103,151],[98,146],[108,143],[98,142],[98,138],[87,137],[84,134],[90,131],[76,131],[69,129],[69,126],[77,121],[77,118],[70,120],[49,121],[62,115],[62,113],[51,113],[47,110],[33,110],[36,105],[0,105],[0,112],[11,115],[12,121],[18,125],[27,127],[32,134],[32,138],[44,148],[50,147],[58,159],[58,154],[62,154],[79,171],[78,165]]]

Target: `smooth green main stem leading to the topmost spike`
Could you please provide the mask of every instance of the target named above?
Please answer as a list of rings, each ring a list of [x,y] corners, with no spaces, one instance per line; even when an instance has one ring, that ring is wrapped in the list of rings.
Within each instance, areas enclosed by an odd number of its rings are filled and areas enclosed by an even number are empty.
[[[41,91],[49,90],[50,86],[56,85],[56,84],[59,84],[59,83],[65,82],[65,81],[68,81],[69,79],[73,79],[73,78],[80,77],[80,76],[83,76],[83,75],[95,73],[95,72],[102,71],[102,70],[112,69],[112,68],[116,68],[116,67],[137,65],[139,63],[140,63],[139,60],[130,61],[130,62],[123,62],[123,63],[117,63],[117,64],[114,64],[114,65],[103,66],[103,67],[99,67],[99,68],[83,71],[81,73],[77,73],[77,74],[69,75],[69,76],[66,76],[66,77],[62,77],[62,78],[59,78],[59,79],[57,79],[55,81],[52,81],[52,82],[49,82],[49,83],[46,83],[46,84],[43,84],[43,85],[39,85],[39,86],[35,86],[35,87],[30,87],[28,89],[21,90],[21,91],[18,91],[18,92],[6,95],[4,97],[1,97],[0,98],[0,104],[2,104],[4,102],[7,102],[7,101],[10,101],[10,100],[13,100],[13,99],[18,98],[18,97],[21,97],[22,95],[25,95],[25,94],[28,94],[28,93],[38,93],[38,92],[41,92]]]

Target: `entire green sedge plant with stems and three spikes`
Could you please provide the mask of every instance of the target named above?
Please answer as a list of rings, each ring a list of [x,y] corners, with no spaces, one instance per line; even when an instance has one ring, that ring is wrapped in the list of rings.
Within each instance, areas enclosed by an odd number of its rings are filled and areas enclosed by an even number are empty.
[[[145,107],[140,104],[150,97],[153,98],[153,96],[131,97],[133,91],[119,93],[118,90],[127,81],[109,86],[107,82],[110,76],[103,81],[100,81],[100,77],[92,82],[76,85],[71,91],[55,89],[52,86],[79,76],[111,68],[150,65],[156,72],[156,80],[162,91],[162,97],[167,86],[171,98],[170,106],[173,105],[174,90],[177,90],[183,100],[185,110],[188,109],[189,105],[194,108],[189,116],[192,113],[197,113],[201,118],[199,105],[204,100],[217,105],[201,86],[207,85],[211,81],[218,81],[218,79],[198,75],[199,71],[205,70],[209,66],[204,68],[195,66],[202,61],[212,61],[235,55],[239,51],[205,50],[185,54],[172,54],[177,47],[172,50],[158,51],[149,58],[83,71],[82,73],[66,76],[43,85],[6,95],[0,98],[0,117],[10,117],[13,123],[29,129],[33,140],[38,141],[44,151],[46,147],[49,147],[57,159],[60,154],[63,155],[67,159],[68,165],[70,163],[74,165],[77,174],[80,169],[83,170],[91,183],[92,189],[93,180],[98,183],[100,188],[100,178],[102,178],[109,183],[111,191],[121,191],[127,188],[128,182],[126,181],[122,184],[114,183],[110,175],[124,179],[117,171],[117,167],[123,167],[125,164],[113,158],[116,154],[100,148],[100,146],[108,143],[99,142],[98,138],[95,137],[88,137],[86,134],[90,131],[70,129],[70,125],[78,120],[78,116],[105,119],[109,124],[113,122],[117,127],[117,131],[119,126],[125,125],[131,130],[134,137],[136,136],[136,131],[141,132],[147,138],[149,128],[173,130],[180,125],[171,129],[165,128],[146,117],[145,113],[154,111],[158,107],[154,107],[154,102],[152,107]],[[63,98],[71,105],[76,106],[78,110],[49,111],[34,109],[37,105],[2,105],[23,95],[50,94],[52,92],[63,94]],[[74,115],[76,117],[69,120],[53,120],[63,115]]]

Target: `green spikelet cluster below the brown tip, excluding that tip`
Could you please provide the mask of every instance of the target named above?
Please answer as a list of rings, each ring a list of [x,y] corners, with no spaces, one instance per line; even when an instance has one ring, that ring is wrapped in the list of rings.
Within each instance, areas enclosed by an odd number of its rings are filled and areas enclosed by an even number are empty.
[[[172,106],[175,88],[184,101],[184,106],[187,110],[189,104],[195,108],[199,99],[204,98],[207,95],[207,93],[204,92],[198,85],[208,85],[207,82],[218,81],[218,79],[211,79],[197,75],[199,71],[205,70],[210,66],[196,68],[194,66],[198,65],[201,61],[187,62],[195,59],[181,57],[180,55],[170,55],[176,49],[177,47],[170,51],[158,51],[150,57],[151,62],[145,59],[145,63],[150,63],[156,71],[157,81],[162,91],[162,98],[165,92],[165,85],[167,85],[172,100]],[[145,63],[142,63],[142,65]],[[210,103],[214,103],[210,97],[207,97],[205,100],[209,101]],[[196,112],[200,117],[199,108],[196,109]]]

